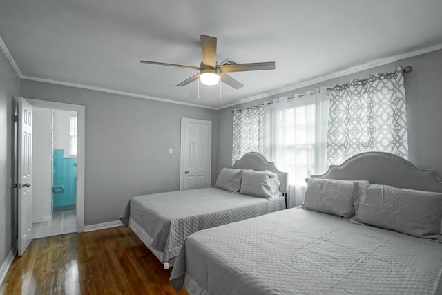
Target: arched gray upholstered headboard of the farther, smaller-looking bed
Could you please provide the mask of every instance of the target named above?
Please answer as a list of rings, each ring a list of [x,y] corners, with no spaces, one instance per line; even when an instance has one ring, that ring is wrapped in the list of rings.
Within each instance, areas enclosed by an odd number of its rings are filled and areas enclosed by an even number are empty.
[[[280,186],[279,190],[282,193],[287,193],[287,178],[288,174],[282,171],[279,171],[273,162],[267,161],[263,155],[260,153],[256,153],[254,151],[250,153],[246,153],[242,155],[240,160],[236,160],[235,164],[233,164],[232,168],[235,169],[253,169],[256,171],[269,170],[278,174]]]

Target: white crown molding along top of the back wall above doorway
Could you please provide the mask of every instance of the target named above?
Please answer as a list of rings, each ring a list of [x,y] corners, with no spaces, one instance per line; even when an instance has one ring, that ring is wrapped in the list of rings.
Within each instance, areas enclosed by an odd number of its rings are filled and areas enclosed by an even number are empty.
[[[117,95],[125,95],[125,96],[130,96],[130,97],[150,99],[150,100],[155,100],[157,102],[168,102],[171,104],[181,104],[183,106],[194,106],[196,108],[208,108],[209,110],[215,110],[215,108],[212,106],[202,106],[200,104],[191,104],[189,102],[177,102],[176,100],[171,100],[171,99],[164,99],[164,98],[160,98],[160,97],[153,97],[153,96],[149,96],[149,95],[142,95],[142,94],[130,93],[130,92],[124,92],[124,91],[116,91],[116,90],[112,90],[112,89],[108,89],[108,88],[88,86],[88,85],[84,85],[84,84],[75,84],[75,83],[69,83],[69,82],[63,82],[63,81],[57,81],[57,80],[51,80],[51,79],[43,79],[43,78],[37,78],[37,77],[28,77],[28,76],[22,76],[21,79],[36,81],[36,82],[44,82],[44,83],[49,83],[49,84],[70,86],[70,87],[76,87],[76,88],[83,88],[83,89],[88,89],[88,90],[92,90],[92,91],[100,91],[100,92],[104,92],[104,93],[112,93],[112,94],[117,94]]]

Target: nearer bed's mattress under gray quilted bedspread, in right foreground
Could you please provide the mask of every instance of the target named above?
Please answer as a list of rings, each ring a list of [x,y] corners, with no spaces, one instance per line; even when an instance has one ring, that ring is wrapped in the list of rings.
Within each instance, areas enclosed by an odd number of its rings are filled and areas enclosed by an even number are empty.
[[[442,244],[305,209],[189,236],[170,282],[189,294],[442,294]]]

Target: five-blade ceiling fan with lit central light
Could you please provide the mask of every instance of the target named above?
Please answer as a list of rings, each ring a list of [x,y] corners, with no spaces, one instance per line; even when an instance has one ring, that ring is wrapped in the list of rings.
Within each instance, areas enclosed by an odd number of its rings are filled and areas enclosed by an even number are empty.
[[[274,70],[275,61],[270,62],[256,62],[252,64],[217,64],[216,63],[216,38],[206,35],[200,35],[201,39],[201,51],[202,61],[198,66],[184,66],[181,64],[166,64],[164,62],[156,61],[140,61],[142,64],[157,64],[160,66],[175,66],[177,68],[190,68],[192,70],[199,70],[200,73],[193,75],[189,79],[184,80],[180,84],[175,86],[186,86],[196,79],[200,78],[200,81],[204,85],[216,85],[220,82],[220,79],[225,84],[239,89],[244,85],[233,79],[226,73],[230,72],[243,72],[248,70]]]

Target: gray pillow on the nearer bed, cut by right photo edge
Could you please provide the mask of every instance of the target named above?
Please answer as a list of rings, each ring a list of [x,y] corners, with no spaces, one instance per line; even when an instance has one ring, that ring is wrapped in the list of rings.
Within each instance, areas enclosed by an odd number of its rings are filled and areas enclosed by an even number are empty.
[[[433,238],[441,234],[442,193],[381,184],[361,186],[354,219],[403,234]]]

